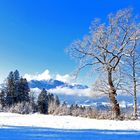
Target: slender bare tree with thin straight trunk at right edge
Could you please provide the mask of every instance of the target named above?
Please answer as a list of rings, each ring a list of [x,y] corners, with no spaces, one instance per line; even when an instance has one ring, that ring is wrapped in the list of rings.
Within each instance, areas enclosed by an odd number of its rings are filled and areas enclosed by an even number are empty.
[[[140,52],[139,42],[134,41],[134,49],[124,59],[123,74],[127,77],[127,91],[134,97],[134,117],[137,119],[137,88],[140,84]],[[129,86],[128,86],[129,85]]]

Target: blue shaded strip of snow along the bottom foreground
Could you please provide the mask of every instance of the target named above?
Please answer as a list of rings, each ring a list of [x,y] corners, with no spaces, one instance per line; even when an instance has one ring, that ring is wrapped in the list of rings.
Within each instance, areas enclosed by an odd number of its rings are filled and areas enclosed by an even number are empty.
[[[0,140],[136,140],[140,131],[3,126]]]

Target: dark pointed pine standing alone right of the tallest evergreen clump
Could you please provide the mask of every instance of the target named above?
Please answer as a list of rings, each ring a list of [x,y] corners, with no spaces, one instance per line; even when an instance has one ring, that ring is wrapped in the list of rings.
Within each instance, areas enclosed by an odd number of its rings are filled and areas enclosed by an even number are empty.
[[[41,114],[48,114],[48,93],[45,89],[38,96],[38,111]]]

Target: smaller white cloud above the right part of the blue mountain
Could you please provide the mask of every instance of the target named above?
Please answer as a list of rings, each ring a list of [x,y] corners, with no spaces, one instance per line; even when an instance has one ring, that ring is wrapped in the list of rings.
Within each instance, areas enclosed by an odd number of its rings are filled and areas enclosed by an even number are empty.
[[[65,83],[70,83],[73,80],[73,77],[70,76],[69,74],[66,75],[57,74],[55,79]]]

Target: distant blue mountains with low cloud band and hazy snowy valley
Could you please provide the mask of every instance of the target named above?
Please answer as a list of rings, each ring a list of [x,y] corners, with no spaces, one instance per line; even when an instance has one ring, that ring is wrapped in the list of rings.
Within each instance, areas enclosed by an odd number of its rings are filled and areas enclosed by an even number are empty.
[[[59,80],[32,80],[29,81],[29,86],[31,89],[41,89],[45,88],[51,93],[59,96],[61,102],[66,102],[67,104],[78,104],[85,106],[95,106],[98,109],[107,109],[109,106],[108,96],[94,96],[87,92],[90,92],[90,88],[82,84],[69,84]],[[38,93],[39,93],[38,92]],[[90,96],[89,96],[90,95]],[[133,107],[133,97],[129,95],[118,95],[117,96],[120,106],[122,108]],[[138,96],[138,106],[139,106],[140,96]]]

